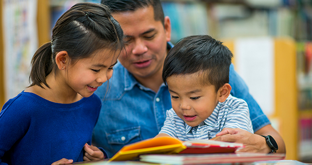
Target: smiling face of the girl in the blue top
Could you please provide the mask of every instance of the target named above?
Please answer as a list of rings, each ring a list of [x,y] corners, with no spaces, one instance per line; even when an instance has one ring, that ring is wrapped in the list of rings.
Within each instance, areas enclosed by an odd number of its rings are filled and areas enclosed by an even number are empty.
[[[88,58],[70,63],[65,82],[82,97],[90,97],[102,83],[112,77],[118,55],[118,51],[101,49]]]

